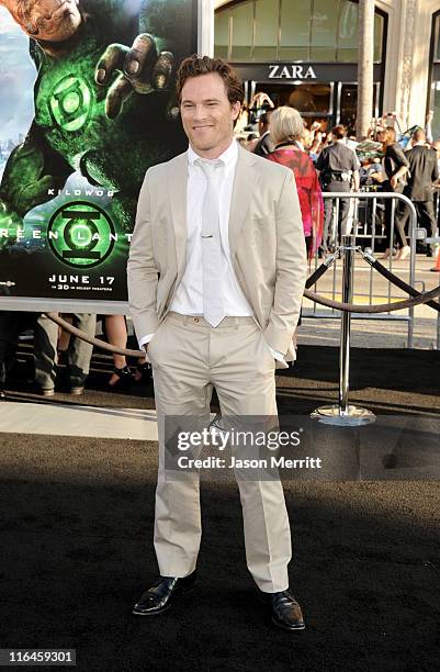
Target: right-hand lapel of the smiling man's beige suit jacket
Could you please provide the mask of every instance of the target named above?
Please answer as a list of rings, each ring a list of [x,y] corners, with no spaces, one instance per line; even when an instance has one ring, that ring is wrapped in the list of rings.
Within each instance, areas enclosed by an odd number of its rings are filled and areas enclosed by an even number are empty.
[[[238,146],[238,159],[235,168],[233,197],[229,212],[229,250],[234,260],[240,231],[246,220],[250,204],[251,190],[258,189],[259,171],[255,167],[256,158],[252,154]]]

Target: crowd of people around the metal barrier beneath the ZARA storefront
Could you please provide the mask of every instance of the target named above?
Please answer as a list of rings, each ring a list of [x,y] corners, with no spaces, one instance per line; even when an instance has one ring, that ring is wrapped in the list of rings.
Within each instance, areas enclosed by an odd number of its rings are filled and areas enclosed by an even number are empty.
[[[278,127],[280,114],[282,119],[296,115],[295,124],[285,127],[281,135]],[[335,200],[326,199],[324,225],[320,226],[317,204],[321,203],[321,191],[403,193],[416,206],[418,226],[425,228],[429,237],[436,236],[438,223],[433,194],[439,179],[440,139],[435,142],[432,138],[431,121],[432,113],[429,113],[424,128],[414,126],[402,133],[396,114],[388,113],[372,120],[368,141],[357,143],[345,126],[338,124],[327,133],[327,122],[315,121],[308,127],[306,120],[293,108],[275,108],[268,94],[258,92],[249,109],[245,109],[244,116],[239,117],[236,133],[238,142],[249,152],[292,168],[298,184],[306,238],[311,235],[308,222],[312,213],[315,222],[315,244],[307,249],[325,256],[335,249],[340,235],[349,233],[350,200],[339,199],[336,222]],[[287,156],[289,161],[285,160]],[[304,182],[305,167],[308,186]],[[384,199],[384,259],[409,257],[408,219],[409,210],[405,203],[398,201],[396,204],[392,199]],[[427,245],[424,251],[432,256],[433,246]]]

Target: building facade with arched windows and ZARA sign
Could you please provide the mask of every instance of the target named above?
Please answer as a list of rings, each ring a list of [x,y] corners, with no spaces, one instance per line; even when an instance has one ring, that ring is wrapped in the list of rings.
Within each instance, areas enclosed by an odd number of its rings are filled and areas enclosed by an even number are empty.
[[[266,91],[311,122],[353,126],[357,0],[214,0],[203,51],[239,70],[248,101]],[[404,128],[433,110],[440,137],[440,0],[376,0],[372,116],[396,112]]]

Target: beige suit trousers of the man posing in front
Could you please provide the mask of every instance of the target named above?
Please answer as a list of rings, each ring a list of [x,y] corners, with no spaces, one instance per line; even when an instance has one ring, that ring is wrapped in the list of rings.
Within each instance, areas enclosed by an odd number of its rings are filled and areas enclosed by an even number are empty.
[[[165,416],[205,416],[213,387],[223,416],[277,415],[274,360],[252,317],[226,317],[216,328],[202,317],[170,313],[148,346],[159,433],[155,549],[162,576],[185,576],[202,535],[199,478],[170,478],[165,468]],[[279,480],[237,479],[246,560],[264,592],[289,585],[291,533]]]

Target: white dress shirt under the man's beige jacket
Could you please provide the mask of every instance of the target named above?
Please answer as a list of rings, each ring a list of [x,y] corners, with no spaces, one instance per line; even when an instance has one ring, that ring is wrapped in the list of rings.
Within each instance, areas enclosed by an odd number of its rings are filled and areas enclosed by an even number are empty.
[[[203,316],[203,256],[202,256],[202,206],[206,188],[203,169],[195,164],[200,159],[191,145],[188,148],[188,190],[187,190],[187,266],[177,288],[170,311],[181,315]],[[249,317],[252,310],[242,293],[234,272],[229,250],[229,213],[238,146],[234,139],[218,157],[224,166],[218,169],[216,179],[218,194],[218,216],[223,259],[223,301],[228,317]],[[149,343],[154,334],[139,338],[139,346]],[[268,345],[270,348],[270,346]],[[287,367],[282,352],[270,348],[273,357]]]

